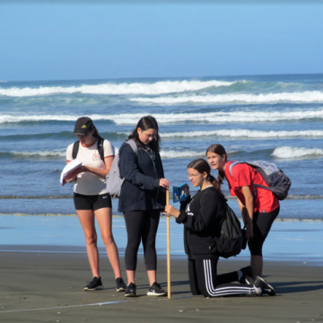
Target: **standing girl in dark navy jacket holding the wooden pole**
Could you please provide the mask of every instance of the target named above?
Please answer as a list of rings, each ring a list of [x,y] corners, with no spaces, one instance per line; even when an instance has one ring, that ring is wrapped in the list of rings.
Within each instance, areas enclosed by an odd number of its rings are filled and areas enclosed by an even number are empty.
[[[160,156],[158,124],[151,116],[139,120],[128,139],[135,140],[135,153],[129,144],[119,150],[120,177],[122,185],[118,211],[123,212],[127,227],[126,270],[127,289],[125,296],[135,296],[135,269],[140,242],[144,246],[150,296],[162,296],[166,292],[156,282],[157,255],[155,240],[161,211],[166,204],[166,189],[170,182],[164,179]]]

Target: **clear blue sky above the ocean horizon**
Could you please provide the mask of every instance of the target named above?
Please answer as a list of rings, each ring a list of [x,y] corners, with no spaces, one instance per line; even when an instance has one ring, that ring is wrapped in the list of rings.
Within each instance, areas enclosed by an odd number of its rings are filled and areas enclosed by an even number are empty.
[[[323,73],[323,3],[0,2],[0,80]]]

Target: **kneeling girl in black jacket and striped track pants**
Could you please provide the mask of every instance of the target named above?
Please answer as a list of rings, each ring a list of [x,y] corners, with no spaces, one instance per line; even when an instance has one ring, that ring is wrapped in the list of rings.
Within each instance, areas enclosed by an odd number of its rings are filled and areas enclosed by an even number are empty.
[[[193,295],[205,297],[269,294],[270,285],[254,281],[250,267],[238,272],[216,275],[218,255],[216,238],[225,216],[225,199],[211,168],[204,159],[197,159],[188,165],[188,178],[193,186],[200,187],[196,196],[188,197],[181,204],[180,211],[166,205],[164,214],[176,217],[184,224],[184,245],[188,255],[188,276]],[[240,284],[229,284],[239,281]],[[272,292],[272,291],[270,291]]]

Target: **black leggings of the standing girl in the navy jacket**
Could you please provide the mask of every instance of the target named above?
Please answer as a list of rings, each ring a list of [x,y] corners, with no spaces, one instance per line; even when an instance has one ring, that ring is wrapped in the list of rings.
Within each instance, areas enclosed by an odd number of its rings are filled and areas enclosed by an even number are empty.
[[[156,234],[160,221],[160,210],[130,211],[124,217],[127,228],[126,270],[135,270],[140,242],[143,241],[146,270],[156,270]]]

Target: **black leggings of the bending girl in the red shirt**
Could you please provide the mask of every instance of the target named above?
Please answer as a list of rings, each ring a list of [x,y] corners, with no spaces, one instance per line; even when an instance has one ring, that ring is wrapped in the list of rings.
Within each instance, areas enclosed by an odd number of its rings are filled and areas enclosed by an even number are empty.
[[[279,214],[279,206],[272,212],[255,212],[253,215],[254,237],[248,242],[251,256],[262,256],[262,248],[275,218]]]

